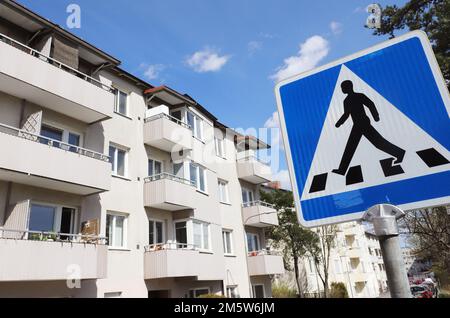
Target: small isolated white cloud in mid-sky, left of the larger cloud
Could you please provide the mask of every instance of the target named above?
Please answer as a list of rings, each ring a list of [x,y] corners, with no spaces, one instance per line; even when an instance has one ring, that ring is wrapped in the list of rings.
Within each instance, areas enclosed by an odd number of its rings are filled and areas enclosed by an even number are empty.
[[[216,50],[205,48],[189,56],[186,63],[197,73],[218,72],[230,58],[230,55],[220,56]]]

